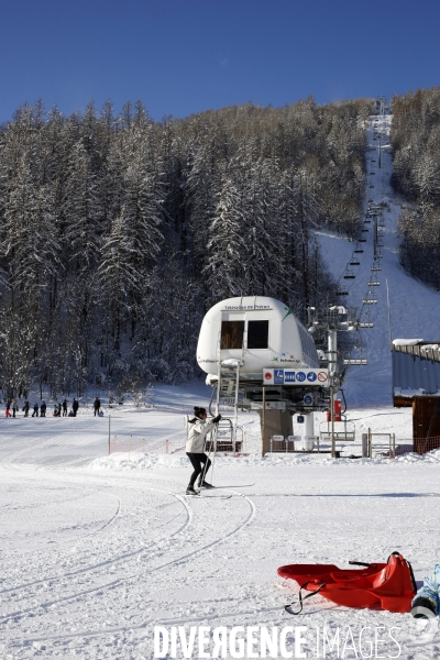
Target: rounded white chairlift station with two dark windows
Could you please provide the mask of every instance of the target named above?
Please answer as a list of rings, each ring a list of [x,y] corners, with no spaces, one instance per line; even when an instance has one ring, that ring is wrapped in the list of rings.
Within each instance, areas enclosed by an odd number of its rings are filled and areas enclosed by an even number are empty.
[[[324,359],[324,361],[322,360]],[[205,316],[197,361],[212,389],[211,404],[258,410],[263,454],[271,438],[293,438],[293,415],[304,418],[304,438],[315,438],[314,415],[329,405],[327,356],[279,300],[265,296],[229,298]],[[211,410],[212,411],[212,410]]]

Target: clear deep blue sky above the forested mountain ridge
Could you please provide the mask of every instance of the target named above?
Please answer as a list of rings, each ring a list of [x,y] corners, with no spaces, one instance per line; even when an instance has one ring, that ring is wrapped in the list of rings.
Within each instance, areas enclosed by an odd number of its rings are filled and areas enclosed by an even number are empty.
[[[2,0],[0,122],[142,99],[154,119],[440,82],[439,0]]]

